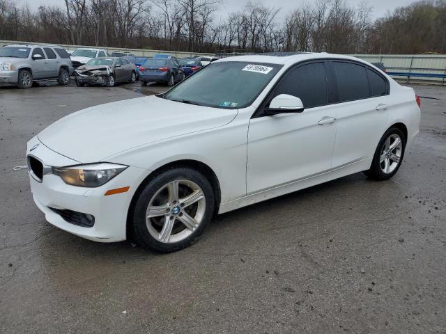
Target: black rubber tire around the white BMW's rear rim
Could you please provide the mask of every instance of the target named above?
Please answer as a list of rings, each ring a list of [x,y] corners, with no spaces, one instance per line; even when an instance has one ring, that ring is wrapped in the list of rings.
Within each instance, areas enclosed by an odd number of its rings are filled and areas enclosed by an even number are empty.
[[[391,138],[391,136],[398,136],[401,139],[401,149],[399,150],[399,161],[395,164],[394,168],[390,173],[385,173],[383,171],[383,164],[384,162],[381,162],[381,153],[383,150],[385,150],[385,142],[387,141],[387,138]],[[401,132],[400,129],[397,127],[391,127],[388,129],[385,134],[383,134],[383,137],[381,137],[378,147],[376,148],[374,159],[371,161],[371,167],[369,170],[364,171],[364,174],[369,177],[371,180],[389,180],[393,175],[397,173],[399,170],[399,167],[401,166],[401,163],[404,158],[404,150],[406,149],[406,137],[404,136],[403,132]],[[394,162],[392,161],[392,164]]]

